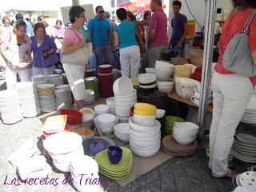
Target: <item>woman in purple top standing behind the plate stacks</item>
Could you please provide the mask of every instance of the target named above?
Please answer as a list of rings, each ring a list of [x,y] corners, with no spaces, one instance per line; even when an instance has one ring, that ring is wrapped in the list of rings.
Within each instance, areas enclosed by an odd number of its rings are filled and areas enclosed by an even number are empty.
[[[33,75],[54,74],[54,65],[58,62],[57,46],[54,40],[46,35],[45,27],[38,22],[34,25],[34,36],[31,37],[33,52]]]

